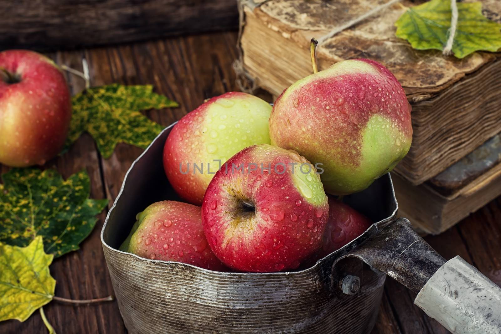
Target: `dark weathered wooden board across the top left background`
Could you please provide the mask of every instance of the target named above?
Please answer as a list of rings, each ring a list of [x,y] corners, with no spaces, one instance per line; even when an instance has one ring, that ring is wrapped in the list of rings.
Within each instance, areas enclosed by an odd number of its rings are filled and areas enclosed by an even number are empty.
[[[68,49],[236,29],[235,0],[3,1],[0,51]]]

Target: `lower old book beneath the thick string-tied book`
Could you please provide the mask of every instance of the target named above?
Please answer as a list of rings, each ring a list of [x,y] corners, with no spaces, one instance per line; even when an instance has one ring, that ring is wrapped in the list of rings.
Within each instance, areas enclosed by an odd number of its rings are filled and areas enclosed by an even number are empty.
[[[441,233],[501,194],[501,134],[418,186],[398,175],[393,184],[399,215],[424,233]]]

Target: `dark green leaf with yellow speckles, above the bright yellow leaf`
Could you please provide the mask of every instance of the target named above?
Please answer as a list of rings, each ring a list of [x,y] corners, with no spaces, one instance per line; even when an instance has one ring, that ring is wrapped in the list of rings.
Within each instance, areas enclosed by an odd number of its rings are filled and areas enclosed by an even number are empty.
[[[27,246],[42,236],[45,251],[58,257],[92,231],[106,199],[89,199],[90,179],[81,171],[63,180],[53,169],[16,168],[0,184],[0,242]]]

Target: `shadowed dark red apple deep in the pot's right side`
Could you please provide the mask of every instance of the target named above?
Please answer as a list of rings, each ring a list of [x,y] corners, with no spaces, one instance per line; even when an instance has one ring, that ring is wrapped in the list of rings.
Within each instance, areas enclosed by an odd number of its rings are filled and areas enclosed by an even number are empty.
[[[329,196],[329,220],[316,259],[321,259],[364,233],[372,222],[334,197]]]

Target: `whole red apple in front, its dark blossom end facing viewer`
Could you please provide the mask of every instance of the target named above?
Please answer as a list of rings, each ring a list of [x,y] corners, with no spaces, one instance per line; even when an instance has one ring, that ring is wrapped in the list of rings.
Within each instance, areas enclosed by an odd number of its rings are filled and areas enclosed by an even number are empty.
[[[231,157],[205,192],[202,222],[216,256],[250,272],[295,269],[318,250],[329,204],[297,152],[255,145]]]

